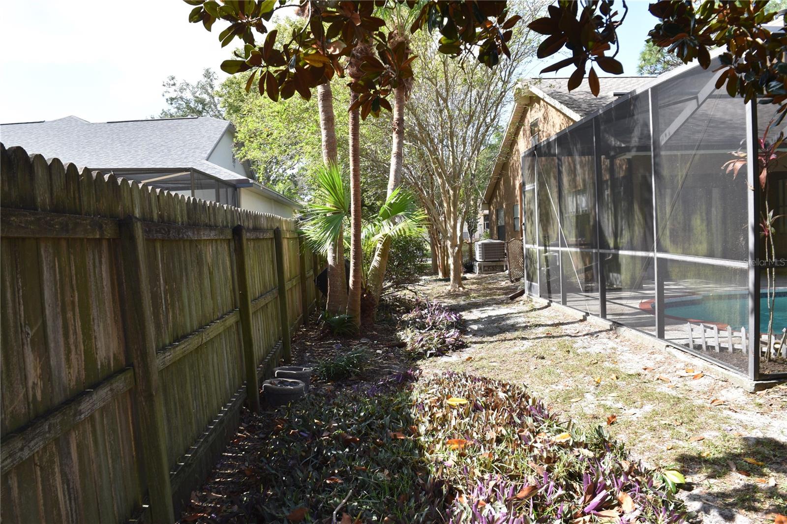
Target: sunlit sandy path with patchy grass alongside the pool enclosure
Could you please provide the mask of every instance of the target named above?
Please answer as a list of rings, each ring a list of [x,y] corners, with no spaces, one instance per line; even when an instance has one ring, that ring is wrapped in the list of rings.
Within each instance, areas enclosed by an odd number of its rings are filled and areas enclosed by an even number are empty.
[[[684,472],[690,491],[681,493],[696,522],[769,522],[769,513],[787,514],[787,385],[747,393],[704,360],[526,297],[508,301],[517,286],[504,274],[464,283],[466,291],[452,294],[435,279],[419,286],[462,312],[469,327],[466,349],[424,361],[424,371],[522,382],[578,423],[603,425],[649,466]]]

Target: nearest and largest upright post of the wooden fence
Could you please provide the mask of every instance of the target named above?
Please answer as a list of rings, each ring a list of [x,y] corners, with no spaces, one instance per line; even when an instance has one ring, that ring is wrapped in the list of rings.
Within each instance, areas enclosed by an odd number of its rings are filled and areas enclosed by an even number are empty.
[[[142,437],[150,511],[153,522],[175,522],[164,431],[164,404],[158,384],[156,339],[150,322],[152,302],[148,288],[145,236],[142,223],[135,217],[129,216],[120,221],[120,253],[126,301],[126,344],[136,383],[135,423]]]

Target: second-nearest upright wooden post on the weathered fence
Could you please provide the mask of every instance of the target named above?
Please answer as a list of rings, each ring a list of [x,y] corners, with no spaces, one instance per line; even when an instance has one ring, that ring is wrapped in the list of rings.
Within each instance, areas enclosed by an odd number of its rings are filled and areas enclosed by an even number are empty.
[[[255,413],[260,412],[260,384],[257,382],[257,359],[254,357],[254,336],[251,329],[251,293],[249,272],[246,268],[246,228],[241,224],[232,228],[235,241],[235,271],[238,279],[238,313],[243,342],[243,368],[246,370],[246,398]]]

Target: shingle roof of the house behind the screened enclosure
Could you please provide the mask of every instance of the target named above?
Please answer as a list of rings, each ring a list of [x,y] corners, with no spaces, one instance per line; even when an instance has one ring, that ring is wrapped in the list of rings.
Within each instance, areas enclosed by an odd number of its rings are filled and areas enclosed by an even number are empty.
[[[568,78],[530,78],[524,82],[536,87],[551,98],[559,101],[579,116],[586,116],[604,105],[615,100],[615,93],[628,93],[650,82],[653,76],[602,76],[598,79],[599,94],[597,97],[590,92],[587,79],[575,90],[568,90]]]

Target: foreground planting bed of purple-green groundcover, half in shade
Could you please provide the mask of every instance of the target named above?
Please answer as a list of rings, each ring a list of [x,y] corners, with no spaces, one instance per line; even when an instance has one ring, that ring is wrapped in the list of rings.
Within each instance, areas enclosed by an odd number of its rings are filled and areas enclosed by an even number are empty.
[[[428,333],[423,320],[435,319],[461,330],[440,305],[414,311],[399,329]],[[645,469],[603,428],[582,430],[523,386],[420,376],[406,366],[430,350],[395,349],[388,328],[353,346],[368,362],[357,375],[244,414],[183,522],[685,522],[677,471]],[[386,342],[385,354],[370,349]]]

